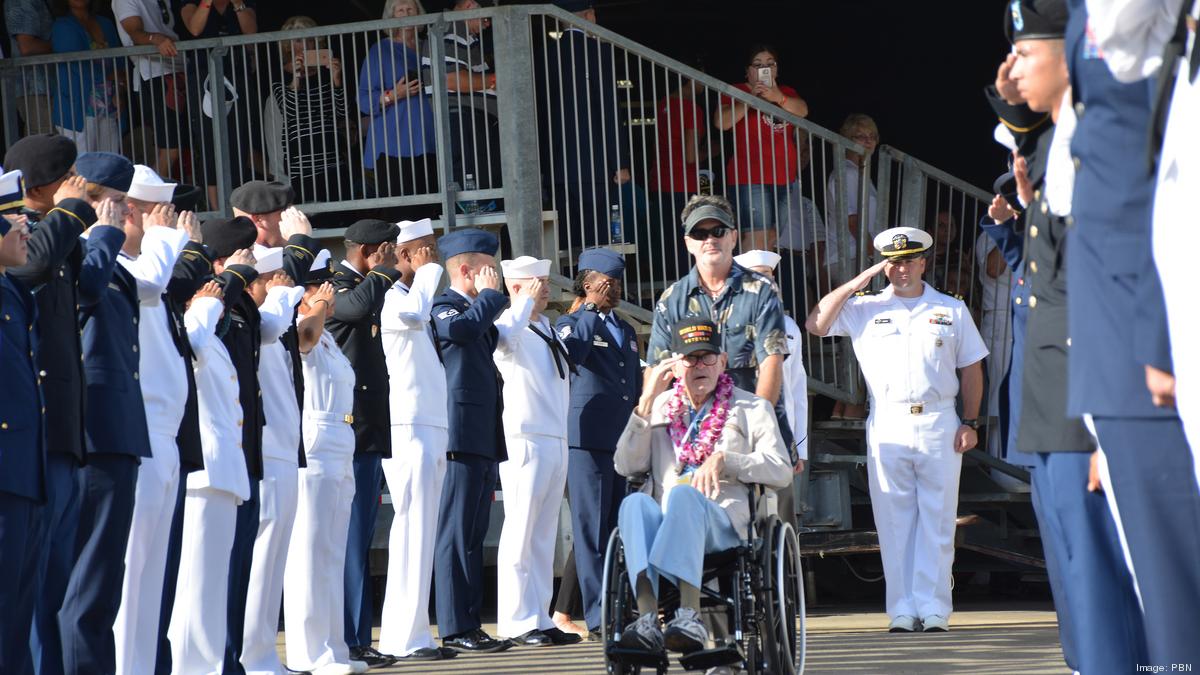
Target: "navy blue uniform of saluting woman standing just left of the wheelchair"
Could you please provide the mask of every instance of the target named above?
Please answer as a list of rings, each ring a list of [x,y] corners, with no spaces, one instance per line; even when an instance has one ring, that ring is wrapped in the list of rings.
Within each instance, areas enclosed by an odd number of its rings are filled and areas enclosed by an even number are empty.
[[[577,369],[566,485],[583,614],[589,628],[599,628],[604,552],[625,497],[625,478],[613,468],[612,454],[642,388],[637,336],[617,315],[601,318],[586,309],[560,316],[556,328]]]

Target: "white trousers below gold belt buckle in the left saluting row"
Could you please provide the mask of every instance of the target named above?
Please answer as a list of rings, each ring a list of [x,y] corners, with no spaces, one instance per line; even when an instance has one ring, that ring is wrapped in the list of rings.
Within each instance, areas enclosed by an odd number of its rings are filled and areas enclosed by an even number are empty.
[[[305,420],[306,447],[310,424],[320,423]],[[294,670],[350,662],[344,574],[354,501],[354,444],[349,425],[342,426],[350,434],[350,452],[322,453],[308,447],[308,466],[300,470],[296,518],[283,569],[283,623],[288,667]]]

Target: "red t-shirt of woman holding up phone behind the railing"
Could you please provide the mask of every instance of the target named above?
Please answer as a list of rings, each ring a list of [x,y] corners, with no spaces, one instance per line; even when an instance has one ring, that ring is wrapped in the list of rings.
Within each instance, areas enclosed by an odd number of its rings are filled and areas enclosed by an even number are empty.
[[[737,84],[738,89],[750,92],[746,83]],[[785,95],[794,97],[796,90],[786,84],[779,85]],[[722,104],[730,106],[733,98],[725,97]],[[745,117],[733,125],[733,149],[726,150],[732,156],[725,167],[726,180],[733,185],[786,185],[799,174],[799,148],[796,127],[757,110],[748,110]]]

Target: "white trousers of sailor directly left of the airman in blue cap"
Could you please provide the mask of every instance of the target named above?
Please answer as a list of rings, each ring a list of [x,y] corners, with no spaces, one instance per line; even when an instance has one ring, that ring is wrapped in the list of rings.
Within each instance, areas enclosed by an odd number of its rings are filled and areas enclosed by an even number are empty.
[[[391,458],[383,460],[395,509],[379,626],[379,651],[384,653],[408,656],[436,646],[430,629],[430,585],[449,442],[450,432],[443,428],[391,426]]]

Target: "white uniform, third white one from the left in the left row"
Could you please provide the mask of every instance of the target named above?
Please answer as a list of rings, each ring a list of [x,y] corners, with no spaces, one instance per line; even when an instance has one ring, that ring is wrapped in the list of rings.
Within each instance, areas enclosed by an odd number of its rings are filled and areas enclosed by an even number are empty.
[[[259,256],[256,253],[256,257]],[[262,263],[263,257],[259,257]],[[274,269],[263,268],[259,273]],[[258,383],[263,388],[266,425],[263,428],[258,537],[250,568],[250,593],[242,629],[241,665],[248,675],[283,674],[275,643],[280,604],[283,602],[283,565],[299,491],[296,452],[300,447],[300,405],[292,377],[292,358],[280,336],[292,327],[295,306],[301,298],[304,287],[278,286],[266,292],[266,300],[258,307],[263,335]]]

